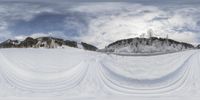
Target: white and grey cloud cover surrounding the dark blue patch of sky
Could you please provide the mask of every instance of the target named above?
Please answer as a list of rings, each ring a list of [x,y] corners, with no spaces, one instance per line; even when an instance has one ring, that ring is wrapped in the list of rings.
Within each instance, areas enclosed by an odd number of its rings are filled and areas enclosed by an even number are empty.
[[[138,37],[147,30],[153,29],[156,36],[169,37],[179,41],[197,43],[200,37],[200,7],[193,5],[153,6],[134,3],[78,3],[70,6],[59,3],[43,5],[31,3],[0,4],[0,39],[15,37],[22,39],[25,34],[14,34],[7,29],[13,20],[29,21],[42,12],[83,13],[88,21],[81,24],[76,19],[66,19],[68,28],[77,27],[80,30],[78,37],[100,48],[118,39]],[[87,16],[87,17],[85,17]],[[77,17],[79,18],[79,17]],[[52,23],[54,24],[54,23]],[[71,27],[69,27],[71,25]],[[87,29],[81,29],[87,28]],[[53,36],[70,39],[65,33],[51,31]],[[78,31],[77,31],[78,32]],[[33,37],[48,36],[48,33],[33,33]]]

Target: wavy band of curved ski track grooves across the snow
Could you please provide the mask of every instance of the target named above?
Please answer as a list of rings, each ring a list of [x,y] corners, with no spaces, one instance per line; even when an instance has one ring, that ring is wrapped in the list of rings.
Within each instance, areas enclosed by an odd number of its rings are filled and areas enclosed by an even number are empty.
[[[134,79],[119,75],[112,71],[109,66],[106,66],[101,57],[92,57],[89,60],[82,60],[72,69],[68,69],[66,73],[70,70],[74,71],[70,73],[72,74],[71,76],[62,76],[61,78],[55,78],[55,80],[36,82],[23,77],[24,73],[20,75],[18,72],[15,72],[18,69],[13,69],[15,66],[9,62],[9,59],[7,59],[2,52],[0,52],[0,59],[3,60],[0,63],[0,75],[7,84],[14,89],[37,93],[65,92],[91,84],[93,87],[96,87],[97,90],[85,90],[86,92],[95,91],[97,94],[103,92],[107,95],[164,95],[184,88],[184,86],[189,83],[190,79],[197,78],[197,76],[195,76],[195,73],[198,72],[197,70],[200,71],[199,51],[191,54],[173,72],[155,79]],[[193,64],[193,61],[196,61],[195,63],[197,63],[197,65]],[[7,66],[3,66],[2,63]]]

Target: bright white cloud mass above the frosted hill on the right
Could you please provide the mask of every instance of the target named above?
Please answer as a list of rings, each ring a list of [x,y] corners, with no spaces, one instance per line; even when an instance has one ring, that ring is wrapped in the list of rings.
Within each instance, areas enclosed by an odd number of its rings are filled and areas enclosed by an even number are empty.
[[[84,5],[74,10],[96,14],[96,18],[90,21],[89,33],[81,39],[101,48],[119,39],[138,37],[148,29],[153,29],[159,37],[168,34],[170,38],[179,41],[198,42],[197,32],[200,31],[196,23],[200,18],[199,7],[178,5],[169,9],[139,4],[102,3]]]

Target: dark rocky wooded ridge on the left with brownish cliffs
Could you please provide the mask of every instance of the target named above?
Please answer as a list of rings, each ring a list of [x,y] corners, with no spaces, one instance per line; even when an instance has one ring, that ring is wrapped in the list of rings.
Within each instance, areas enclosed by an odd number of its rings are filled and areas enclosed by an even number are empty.
[[[63,40],[55,37],[39,37],[39,38],[31,38],[27,37],[23,41],[19,40],[6,40],[0,44],[0,48],[63,48],[64,46],[79,48],[81,45],[81,49],[85,50],[97,50],[97,47],[87,44],[84,42],[76,42],[70,40]]]

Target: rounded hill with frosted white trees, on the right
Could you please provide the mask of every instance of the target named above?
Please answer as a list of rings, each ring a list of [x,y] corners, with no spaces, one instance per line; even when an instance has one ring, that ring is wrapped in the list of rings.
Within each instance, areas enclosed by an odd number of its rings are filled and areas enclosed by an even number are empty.
[[[191,44],[166,38],[129,38],[109,44],[103,51],[114,53],[169,53],[194,49]]]

